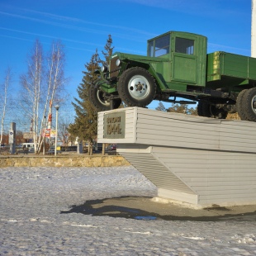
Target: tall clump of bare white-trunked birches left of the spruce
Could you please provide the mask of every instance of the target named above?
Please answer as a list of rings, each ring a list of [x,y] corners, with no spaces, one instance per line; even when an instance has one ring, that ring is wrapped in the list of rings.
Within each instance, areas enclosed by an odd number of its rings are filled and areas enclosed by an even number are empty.
[[[28,72],[21,76],[23,107],[29,113],[32,122],[35,152],[39,153],[46,129],[45,116],[49,115],[50,101],[61,102],[61,88],[64,88],[64,46],[53,42],[50,54],[44,58],[39,40],[28,61]]]

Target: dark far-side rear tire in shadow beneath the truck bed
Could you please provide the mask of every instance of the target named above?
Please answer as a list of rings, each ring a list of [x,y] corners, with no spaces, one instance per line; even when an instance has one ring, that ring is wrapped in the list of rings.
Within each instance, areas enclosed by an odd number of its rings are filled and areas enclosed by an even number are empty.
[[[225,119],[228,115],[228,111],[225,111],[225,109],[223,109],[222,107],[217,107],[210,102],[198,102],[197,114],[198,116]]]

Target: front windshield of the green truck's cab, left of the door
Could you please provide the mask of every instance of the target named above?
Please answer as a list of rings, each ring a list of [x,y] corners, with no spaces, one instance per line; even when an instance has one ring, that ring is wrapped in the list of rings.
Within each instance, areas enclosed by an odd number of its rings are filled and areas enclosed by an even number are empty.
[[[162,36],[156,40],[149,42],[149,53],[150,57],[159,57],[167,55],[170,49],[170,35]]]

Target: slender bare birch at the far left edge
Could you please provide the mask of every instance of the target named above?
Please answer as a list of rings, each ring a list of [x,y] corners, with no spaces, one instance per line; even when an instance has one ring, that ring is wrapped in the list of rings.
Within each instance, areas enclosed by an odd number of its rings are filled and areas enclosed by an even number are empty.
[[[3,124],[4,124],[4,119],[7,111],[7,95],[8,95],[8,88],[10,87],[11,83],[11,69],[7,68],[5,78],[4,78],[4,83],[2,85],[2,92],[1,95],[1,103],[2,103],[2,116],[1,116],[1,134],[0,134],[0,145],[2,144],[2,133],[3,133]]]

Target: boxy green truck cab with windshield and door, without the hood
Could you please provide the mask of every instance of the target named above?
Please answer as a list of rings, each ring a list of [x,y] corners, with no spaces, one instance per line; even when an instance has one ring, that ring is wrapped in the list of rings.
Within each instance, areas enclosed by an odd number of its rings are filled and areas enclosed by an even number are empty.
[[[148,56],[167,60],[152,64],[162,74],[165,88],[183,91],[187,84],[205,86],[206,42],[205,36],[177,31],[148,40]]]

